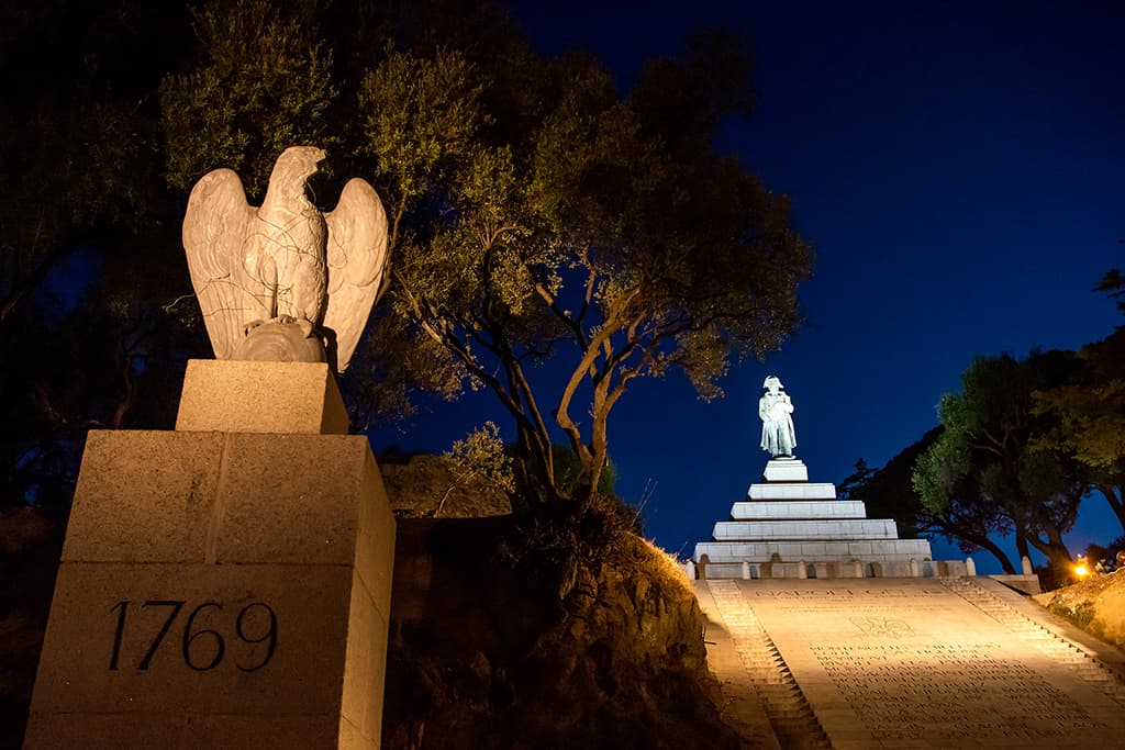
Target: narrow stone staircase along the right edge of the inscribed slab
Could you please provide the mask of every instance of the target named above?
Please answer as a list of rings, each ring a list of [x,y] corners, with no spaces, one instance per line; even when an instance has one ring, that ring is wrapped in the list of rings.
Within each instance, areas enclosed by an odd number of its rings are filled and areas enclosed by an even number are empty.
[[[1125,707],[1125,680],[1116,671],[1108,669],[1074,644],[1017,612],[990,591],[984,590],[971,578],[940,578],[938,580],[951,591],[1018,635],[1036,651],[1063,665],[1099,693]]]

